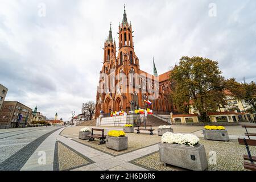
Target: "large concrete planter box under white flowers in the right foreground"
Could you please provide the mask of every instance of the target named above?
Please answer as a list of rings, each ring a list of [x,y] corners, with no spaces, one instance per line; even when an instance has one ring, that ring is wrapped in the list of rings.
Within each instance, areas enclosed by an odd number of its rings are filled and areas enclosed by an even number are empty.
[[[207,156],[203,144],[184,146],[180,144],[159,143],[160,162],[191,169],[204,171],[208,167]]]

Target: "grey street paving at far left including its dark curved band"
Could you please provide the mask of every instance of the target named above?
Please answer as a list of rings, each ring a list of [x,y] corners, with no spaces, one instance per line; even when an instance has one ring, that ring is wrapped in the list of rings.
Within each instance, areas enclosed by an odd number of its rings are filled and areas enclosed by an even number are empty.
[[[30,155],[60,127],[32,127],[0,130],[0,170],[19,170]],[[48,134],[48,135],[47,135]]]

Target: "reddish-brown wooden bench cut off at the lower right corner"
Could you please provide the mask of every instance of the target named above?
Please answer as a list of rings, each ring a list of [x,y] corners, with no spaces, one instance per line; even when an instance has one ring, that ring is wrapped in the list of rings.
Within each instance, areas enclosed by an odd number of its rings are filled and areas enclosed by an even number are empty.
[[[238,143],[245,145],[247,154],[248,154],[248,155],[243,155],[243,159],[245,160],[243,162],[243,167],[245,169],[250,169],[250,170],[256,171],[256,164],[254,163],[254,162],[256,162],[256,156],[251,156],[251,152],[249,150],[249,146],[256,146],[256,140],[238,138]],[[249,162],[246,162],[246,161],[249,161]]]

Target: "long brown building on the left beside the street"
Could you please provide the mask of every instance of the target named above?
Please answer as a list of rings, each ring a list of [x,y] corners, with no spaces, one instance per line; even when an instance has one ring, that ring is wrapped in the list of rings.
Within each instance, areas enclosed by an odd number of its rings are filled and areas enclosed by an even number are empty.
[[[32,109],[17,101],[4,101],[0,111],[0,128],[25,127],[32,122]]]

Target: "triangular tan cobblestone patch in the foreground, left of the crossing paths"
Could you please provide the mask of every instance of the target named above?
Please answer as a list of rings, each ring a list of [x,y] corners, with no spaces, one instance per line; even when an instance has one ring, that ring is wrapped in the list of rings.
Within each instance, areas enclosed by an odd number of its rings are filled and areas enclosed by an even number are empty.
[[[57,142],[57,170],[65,171],[93,163],[89,158],[79,154],[61,142]]]

